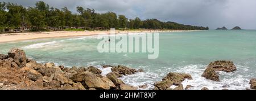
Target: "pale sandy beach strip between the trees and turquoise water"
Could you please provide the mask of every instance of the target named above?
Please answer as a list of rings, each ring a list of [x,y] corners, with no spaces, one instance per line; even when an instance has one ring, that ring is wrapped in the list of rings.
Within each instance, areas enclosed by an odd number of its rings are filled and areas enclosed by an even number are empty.
[[[150,33],[150,32],[188,32],[196,30],[115,30],[115,33]],[[56,31],[56,32],[26,32],[26,33],[3,33],[0,34],[0,43],[11,41],[22,41],[38,38],[54,37],[76,37],[76,36],[93,36],[97,34],[110,34],[109,31]]]

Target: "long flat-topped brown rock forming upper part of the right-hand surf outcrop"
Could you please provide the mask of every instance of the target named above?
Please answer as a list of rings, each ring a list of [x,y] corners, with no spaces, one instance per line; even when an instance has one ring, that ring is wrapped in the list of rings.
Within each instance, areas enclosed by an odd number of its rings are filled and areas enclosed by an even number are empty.
[[[237,70],[236,65],[229,60],[211,62],[208,67],[215,69],[215,71],[233,72]]]

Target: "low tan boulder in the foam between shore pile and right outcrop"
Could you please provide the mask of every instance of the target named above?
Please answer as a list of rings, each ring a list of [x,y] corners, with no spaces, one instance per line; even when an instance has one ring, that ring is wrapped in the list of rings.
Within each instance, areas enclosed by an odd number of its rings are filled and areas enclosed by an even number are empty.
[[[180,85],[185,79],[192,80],[192,76],[186,73],[168,73],[163,81],[170,80],[174,82],[174,85]]]

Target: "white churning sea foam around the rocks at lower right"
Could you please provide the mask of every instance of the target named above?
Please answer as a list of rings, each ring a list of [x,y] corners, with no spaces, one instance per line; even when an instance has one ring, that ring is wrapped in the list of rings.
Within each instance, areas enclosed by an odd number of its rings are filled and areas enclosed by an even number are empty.
[[[191,90],[200,90],[203,87],[207,87],[212,90],[222,90],[222,89],[246,89],[249,88],[249,79],[246,77],[250,77],[248,75],[242,75],[247,71],[248,67],[242,67],[237,65],[237,71],[232,73],[226,72],[217,72],[220,75],[220,82],[207,80],[204,77],[201,77],[205,70],[206,65],[186,65],[184,67],[179,67],[174,72],[179,73],[189,73],[191,74],[193,80],[185,80],[181,84],[185,88],[187,85],[192,85],[193,87],[189,88]],[[166,73],[164,70],[159,70],[163,73]],[[167,73],[166,73],[167,74]],[[165,75],[166,75],[165,74]],[[125,76],[121,80],[123,80],[126,84],[132,86],[140,86],[140,85],[148,85],[146,89],[154,89],[154,82],[160,81],[162,74],[154,73],[154,72],[146,72],[146,73],[136,73],[130,76]],[[171,86],[174,89],[176,86]]]

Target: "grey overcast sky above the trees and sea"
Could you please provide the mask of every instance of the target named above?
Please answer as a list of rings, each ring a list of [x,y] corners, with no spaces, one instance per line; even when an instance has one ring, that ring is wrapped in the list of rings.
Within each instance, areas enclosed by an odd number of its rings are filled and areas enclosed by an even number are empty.
[[[23,6],[35,6],[36,1],[48,5],[68,7],[76,13],[76,6],[94,8],[96,12],[113,11],[129,19],[156,18],[162,21],[217,27],[256,29],[256,0],[0,0]]]

